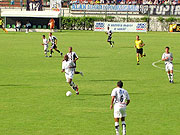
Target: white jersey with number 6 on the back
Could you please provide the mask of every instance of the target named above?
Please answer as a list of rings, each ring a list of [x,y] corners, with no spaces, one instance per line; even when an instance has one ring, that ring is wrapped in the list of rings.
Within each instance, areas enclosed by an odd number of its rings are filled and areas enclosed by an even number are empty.
[[[114,88],[111,96],[114,96],[114,104],[119,103],[122,106],[126,106],[126,101],[130,100],[128,92],[123,88]]]

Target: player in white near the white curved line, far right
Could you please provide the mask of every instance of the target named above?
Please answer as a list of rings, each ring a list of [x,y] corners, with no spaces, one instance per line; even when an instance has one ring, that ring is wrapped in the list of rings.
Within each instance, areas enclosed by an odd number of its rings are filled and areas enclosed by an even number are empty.
[[[168,79],[170,83],[174,83],[173,81],[173,55],[169,52],[169,47],[165,48],[165,53],[162,55],[162,61],[165,62],[165,69],[168,75]]]

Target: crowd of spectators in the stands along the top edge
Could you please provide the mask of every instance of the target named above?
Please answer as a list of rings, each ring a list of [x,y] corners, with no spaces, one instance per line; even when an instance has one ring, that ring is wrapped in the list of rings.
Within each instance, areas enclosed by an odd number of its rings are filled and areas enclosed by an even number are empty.
[[[180,0],[71,0],[70,4],[177,5]]]

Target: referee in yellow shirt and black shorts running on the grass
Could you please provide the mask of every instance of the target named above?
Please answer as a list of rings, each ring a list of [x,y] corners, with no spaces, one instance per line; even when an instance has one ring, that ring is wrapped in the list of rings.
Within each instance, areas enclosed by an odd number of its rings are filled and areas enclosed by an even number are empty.
[[[137,65],[139,65],[139,54],[141,57],[145,57],[146,54],[143,54],[143,46],[145,46],[145,44],[143,43],[143,41],[141,39],[139,39],[139,35],[136,36],[136,40],[135,40],[135,48],[136,48],[136,53],[137,53]]]

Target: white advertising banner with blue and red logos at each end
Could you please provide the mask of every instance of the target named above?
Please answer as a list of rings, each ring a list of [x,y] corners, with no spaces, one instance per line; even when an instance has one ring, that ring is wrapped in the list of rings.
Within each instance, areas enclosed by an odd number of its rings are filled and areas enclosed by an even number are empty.
[[[94,22],[94,31],[147,32],[146,22]]]

